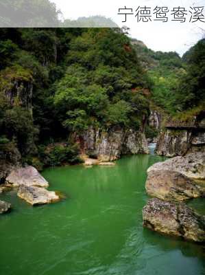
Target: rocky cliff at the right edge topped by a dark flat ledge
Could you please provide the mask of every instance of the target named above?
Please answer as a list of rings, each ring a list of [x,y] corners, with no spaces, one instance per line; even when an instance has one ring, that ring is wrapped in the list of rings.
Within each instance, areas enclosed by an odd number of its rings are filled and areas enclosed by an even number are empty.
[[[205,151],[205,123],[204,118],[200,121],[195,118],[191,123],[175,122],[169,123],[165,131],[160,133],[156,145],[158,155],[175,157]]]

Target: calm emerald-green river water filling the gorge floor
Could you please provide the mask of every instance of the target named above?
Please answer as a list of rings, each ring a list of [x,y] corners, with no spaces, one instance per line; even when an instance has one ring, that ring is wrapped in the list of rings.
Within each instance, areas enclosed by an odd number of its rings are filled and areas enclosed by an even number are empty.
[[[154,155],[123,157],[114,167],[48,168],[51,190],[66,199],[32,207],[15,191],[0,199],[1,275],[198,275],[204,248],[142,227],[146,170]],[[189,203],[204,212],[204,201]]]

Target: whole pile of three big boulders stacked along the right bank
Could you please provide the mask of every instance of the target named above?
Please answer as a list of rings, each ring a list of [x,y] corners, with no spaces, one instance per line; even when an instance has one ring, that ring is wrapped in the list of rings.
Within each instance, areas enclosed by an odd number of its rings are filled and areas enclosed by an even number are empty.
[[[150,199],[143,208],[143,225],[187,240],[205,241],[205,217],[178,203],[204,197],[205,186],[193,179],[205,179],[205,153],[190,153],[158,162],[149,167],[147,173],[145,188],[156,198]]]

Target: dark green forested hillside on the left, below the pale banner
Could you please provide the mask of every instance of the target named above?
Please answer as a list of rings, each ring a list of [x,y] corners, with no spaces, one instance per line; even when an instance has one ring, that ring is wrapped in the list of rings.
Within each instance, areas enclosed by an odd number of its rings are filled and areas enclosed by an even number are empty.
[[[0,32],[0,142],[15,142],[27,161],[35,145],[68,141],[89,125],[139,129],[148,115],[147,74],[119,30]]]

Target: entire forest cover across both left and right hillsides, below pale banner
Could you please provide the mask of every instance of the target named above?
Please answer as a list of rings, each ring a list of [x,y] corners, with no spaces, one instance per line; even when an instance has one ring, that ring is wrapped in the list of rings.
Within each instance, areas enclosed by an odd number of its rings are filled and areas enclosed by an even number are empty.
[[[203,107],[204,40],[185,62],[119,29],[2,28],[0,37],[0,146],[17,146],[27,163],[78,162],[70,133],[143,129],[152,105],[171,115]]]

